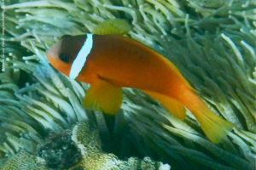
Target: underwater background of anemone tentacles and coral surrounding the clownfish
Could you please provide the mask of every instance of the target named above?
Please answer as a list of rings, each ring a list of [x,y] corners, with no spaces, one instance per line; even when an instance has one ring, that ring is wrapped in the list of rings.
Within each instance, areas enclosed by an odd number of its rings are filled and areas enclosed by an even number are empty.
[[[1,7],[1,170],[255,168],[256,1],[1,0]],[[55,71],[45,53],[61,36],[115,18],[234,123],[223,143],[212,144],[189,111],[181,121],[137,89],[124,88],[114,117],[84,110],[89,85]]]

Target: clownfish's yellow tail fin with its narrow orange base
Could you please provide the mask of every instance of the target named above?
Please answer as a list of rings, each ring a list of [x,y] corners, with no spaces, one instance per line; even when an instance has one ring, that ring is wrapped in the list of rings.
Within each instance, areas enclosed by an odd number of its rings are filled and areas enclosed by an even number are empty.
[[[220,143],[233,128],[233,124],[213,113],[207,105],[191,90],[185,91],[184,105],[193,113],[200,123],[207,138],[213,143]]]

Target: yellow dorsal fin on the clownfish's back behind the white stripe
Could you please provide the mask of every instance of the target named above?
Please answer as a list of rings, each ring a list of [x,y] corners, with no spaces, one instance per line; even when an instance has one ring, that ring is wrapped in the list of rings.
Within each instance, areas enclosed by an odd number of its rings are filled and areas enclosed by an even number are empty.
[[[109,19],[104,20],[99,25],[95,26],[93,34],[119,34],[124,35],[131,31],[131,25],[126,20],[121,19]]]

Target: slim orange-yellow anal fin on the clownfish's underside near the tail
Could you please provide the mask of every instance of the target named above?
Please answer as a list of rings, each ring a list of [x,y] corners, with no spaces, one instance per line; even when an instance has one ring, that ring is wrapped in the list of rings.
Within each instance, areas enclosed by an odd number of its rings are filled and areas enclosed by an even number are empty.
[[[179,103],[176,99],[172,99],[166,95],[158,94],[156,92],[151,92],[143,90],[144,93],[150,95],[154,99],[160,101],[160,104],[163,105],[168,111],[170,111],[174,116],[177,116],[179,119],[184,119],[186,116],[186,110],[184,106]]]

